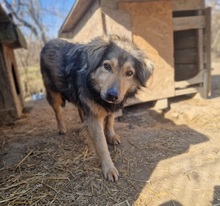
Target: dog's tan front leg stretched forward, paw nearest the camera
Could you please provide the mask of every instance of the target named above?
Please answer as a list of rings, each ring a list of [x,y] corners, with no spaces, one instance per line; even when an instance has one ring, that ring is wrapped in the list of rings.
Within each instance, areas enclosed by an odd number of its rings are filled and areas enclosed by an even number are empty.
[[[104,177],[111,181],[118,180],[118,170],[110,157],[107,142],[104,134],[104,118],[89,116],[86,119],[89,135],[94,143],[97,155],[102,165]]]

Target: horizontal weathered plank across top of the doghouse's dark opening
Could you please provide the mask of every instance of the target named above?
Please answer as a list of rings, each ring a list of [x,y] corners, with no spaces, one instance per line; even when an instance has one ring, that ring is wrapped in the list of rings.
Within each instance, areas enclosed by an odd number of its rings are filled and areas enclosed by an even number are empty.
[[[205,28],[204,16],[190,16],[173,18],[173,30],[189,30]]]

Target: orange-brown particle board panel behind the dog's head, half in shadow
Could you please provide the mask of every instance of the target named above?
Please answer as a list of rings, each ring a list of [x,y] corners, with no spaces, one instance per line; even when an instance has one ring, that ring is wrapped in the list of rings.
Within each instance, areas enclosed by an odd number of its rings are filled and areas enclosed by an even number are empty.
[[[172,5],[170,1],[122,2],[131,18],[133,42],[155,64],[153,76],[136,97],[139,102],[174,96]],[[133,103],[133,102],[132,102]]]

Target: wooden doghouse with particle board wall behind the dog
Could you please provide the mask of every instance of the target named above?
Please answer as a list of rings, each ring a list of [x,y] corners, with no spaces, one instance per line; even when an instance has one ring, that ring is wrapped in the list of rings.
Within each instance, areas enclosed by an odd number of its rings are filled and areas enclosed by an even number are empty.
[[[204,0],[77,0],[59,37],[86,43],[104,34],[123,35],[155,64],[147,88],[128,102],[210,92],[211,10]]]

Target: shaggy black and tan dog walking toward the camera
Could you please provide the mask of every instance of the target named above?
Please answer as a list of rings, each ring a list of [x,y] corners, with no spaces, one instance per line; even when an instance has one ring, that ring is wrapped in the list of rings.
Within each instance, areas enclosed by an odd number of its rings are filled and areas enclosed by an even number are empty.
[[[96,37],[88,44],[50,40],[40,54],[46,96],[52,106],[60,134],[66,128],[61,107],[69,101],[78,107],[101,162],[104,177],[117,181],[107,142],[119,144],[114,131],[114,112],[142,88],[153,72],[153,63],[124,37]]]

